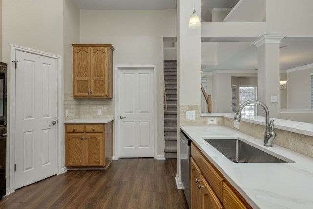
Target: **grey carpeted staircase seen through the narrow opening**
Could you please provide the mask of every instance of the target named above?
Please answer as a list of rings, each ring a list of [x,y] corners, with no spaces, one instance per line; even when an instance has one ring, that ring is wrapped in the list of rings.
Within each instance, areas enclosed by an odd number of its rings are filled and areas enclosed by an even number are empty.
[[[167,111],[164,112],[165,158],[176,158],[176,60],[164,60]]]

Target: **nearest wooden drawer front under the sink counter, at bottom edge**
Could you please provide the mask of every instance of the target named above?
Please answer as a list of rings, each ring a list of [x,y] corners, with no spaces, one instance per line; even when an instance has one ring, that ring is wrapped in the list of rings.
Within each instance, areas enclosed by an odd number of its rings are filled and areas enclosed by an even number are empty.
[[[223,206],[225,209],[247,209],[237,194],[223,182]]]

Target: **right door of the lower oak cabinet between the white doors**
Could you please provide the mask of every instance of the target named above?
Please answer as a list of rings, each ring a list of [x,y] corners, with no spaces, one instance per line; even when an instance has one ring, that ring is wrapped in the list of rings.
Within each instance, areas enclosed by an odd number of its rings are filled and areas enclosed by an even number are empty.
[[[105,166],[103,133],[86,133],[85,165]]]

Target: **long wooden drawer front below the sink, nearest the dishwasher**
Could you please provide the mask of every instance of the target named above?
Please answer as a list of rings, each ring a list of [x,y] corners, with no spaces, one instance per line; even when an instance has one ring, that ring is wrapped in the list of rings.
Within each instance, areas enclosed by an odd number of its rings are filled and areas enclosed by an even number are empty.
[[[202,175],[206,178],[209,185],[216,193],[216,196],[222,201],[222,186],[224,181],[222,176],[220,176],[212,165],[208,163],[193,143],[191,144],[191,156],[198,164]]]

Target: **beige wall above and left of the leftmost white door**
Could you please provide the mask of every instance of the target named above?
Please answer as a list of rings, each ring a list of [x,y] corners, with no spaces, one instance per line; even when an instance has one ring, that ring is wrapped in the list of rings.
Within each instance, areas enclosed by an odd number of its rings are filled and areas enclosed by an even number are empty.
[[[63,56],[62,0],[2,0],[2,60],[8,63],[8,124],[10,124],[11,44]],[[9,186],[10,127],[7,136]]]

